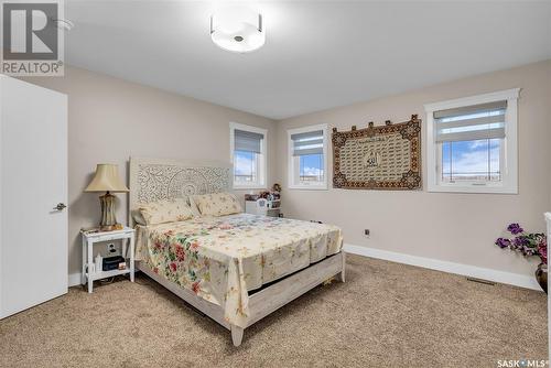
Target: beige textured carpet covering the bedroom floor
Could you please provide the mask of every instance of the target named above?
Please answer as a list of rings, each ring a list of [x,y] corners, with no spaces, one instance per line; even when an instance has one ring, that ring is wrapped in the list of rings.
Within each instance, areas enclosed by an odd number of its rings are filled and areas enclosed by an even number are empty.
[[[318,286],[229,333],[145,277],[0,322],[0,367],[497,367],[547,359],[542,292],[349,256]]]

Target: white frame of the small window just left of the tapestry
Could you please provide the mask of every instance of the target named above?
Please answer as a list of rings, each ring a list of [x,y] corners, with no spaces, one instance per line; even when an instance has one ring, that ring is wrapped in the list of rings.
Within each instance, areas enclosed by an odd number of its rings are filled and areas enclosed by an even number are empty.
[[[313,183],[300,183],[295,184],[294,181],[294,156],[293,156],[293,140],[291,139],[292,134],[298,133],[306,133],[314,130],[323,131],[323,183],[313,184]],[[317,126],[309,126],[295,129],[289,129],[287,131],[288,134],[288,186],[290,190],[310,190],[310,191],[326,191],[327,182],[328,182],[328,172],[327,172],[327,147],[328,147],[328,138],[327,138],[327,125],[317,125]]]

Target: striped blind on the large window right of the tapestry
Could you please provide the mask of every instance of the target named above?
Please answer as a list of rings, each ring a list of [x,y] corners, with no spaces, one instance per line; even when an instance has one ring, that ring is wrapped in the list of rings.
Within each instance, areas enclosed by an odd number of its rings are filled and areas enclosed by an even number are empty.
[[[434,111],[436,141],[505,138],[507,101]]]

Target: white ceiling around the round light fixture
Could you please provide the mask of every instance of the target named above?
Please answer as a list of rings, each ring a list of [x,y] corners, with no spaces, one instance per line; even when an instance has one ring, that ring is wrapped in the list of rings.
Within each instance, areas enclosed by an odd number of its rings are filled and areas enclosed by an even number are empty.
[[[213,44],[216,7],[66,0],[67,63],[282,119],[551,58],[551,1],[257,2],[250,54]]]

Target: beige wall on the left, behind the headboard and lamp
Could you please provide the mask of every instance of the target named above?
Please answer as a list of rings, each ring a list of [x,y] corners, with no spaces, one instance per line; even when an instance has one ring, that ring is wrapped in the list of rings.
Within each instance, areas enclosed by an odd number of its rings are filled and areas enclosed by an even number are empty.
[[[128,183],[132,155],[229,161],[229,121],[267,128],[269,160],[276,156],[276,126],[267,118],[73,67],[63,78],[26,80],[68,95],[69,273],[80,271],[79,229],[99,223],[98,195],[83,193],[97,163],[119,164]],[[128,195],[117,196],[117,219],[127,224]]]

